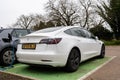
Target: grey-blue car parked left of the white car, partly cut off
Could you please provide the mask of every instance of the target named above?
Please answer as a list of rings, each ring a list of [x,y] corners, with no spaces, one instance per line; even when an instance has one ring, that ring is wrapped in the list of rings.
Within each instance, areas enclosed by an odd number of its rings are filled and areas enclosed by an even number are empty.
[[[10,65],[15,60],[19,37],[30,33],[28,29],[0,29],[0,65]]]

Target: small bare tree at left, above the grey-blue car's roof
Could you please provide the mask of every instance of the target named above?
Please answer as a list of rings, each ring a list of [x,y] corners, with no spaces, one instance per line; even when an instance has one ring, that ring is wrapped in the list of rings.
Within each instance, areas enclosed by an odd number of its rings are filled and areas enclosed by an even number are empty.
[[[33,15],[29,16],[21,15],[17,19],[17,22],[14,24],[14,26],[27,29],[31,27],[33,20],[34,20]]]

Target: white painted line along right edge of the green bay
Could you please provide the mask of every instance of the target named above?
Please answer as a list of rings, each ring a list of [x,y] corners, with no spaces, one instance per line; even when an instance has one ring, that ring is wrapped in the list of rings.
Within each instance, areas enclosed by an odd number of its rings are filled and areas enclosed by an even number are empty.
[[[104,65],[106,65],[107,63],[109,63],[110,61],[112,61],[114,58],[116,58],[117,56],[113,56],[110,60],[108,60],[107,62],[103,63],[102,65],[98,66],[97,68],[95,68],[94,70],[88,72],[86,75],[84,75],[83,77],[77,79],[77,80],[84,80],[85,78],[87,78],[88,76],[90,76],[91,74],[93,74],[94,72],[96,72],[98,69],[102,68]]]

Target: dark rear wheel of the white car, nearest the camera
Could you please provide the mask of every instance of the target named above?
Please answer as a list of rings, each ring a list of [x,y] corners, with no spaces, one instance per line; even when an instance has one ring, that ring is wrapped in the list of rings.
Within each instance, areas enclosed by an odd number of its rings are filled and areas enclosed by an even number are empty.
[[[74,72],[79,68],[80,64],[80,52],[73,48],[69,54],[65,70],[67,72]]]

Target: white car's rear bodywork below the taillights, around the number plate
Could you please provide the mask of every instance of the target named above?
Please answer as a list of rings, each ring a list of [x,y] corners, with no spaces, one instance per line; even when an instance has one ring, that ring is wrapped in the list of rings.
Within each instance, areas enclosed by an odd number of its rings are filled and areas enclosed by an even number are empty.
[[[35,49],[22,49],[22,44],[18,44],[16,52],[17,59],[21,63],[50,65],[53,67],[64,67],[68,55],[69,49],[61,44],[36,44]]]

